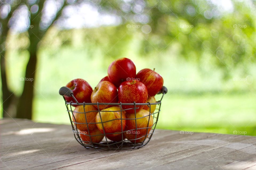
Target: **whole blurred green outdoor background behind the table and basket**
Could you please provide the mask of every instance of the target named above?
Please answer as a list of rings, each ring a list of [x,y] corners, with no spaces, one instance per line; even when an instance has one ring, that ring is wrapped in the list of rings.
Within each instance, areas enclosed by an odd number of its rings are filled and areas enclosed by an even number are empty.
[[[256,1],[0,4],[1,117],[70,124],[59,88],[127,57],[168,88],[157,128],[256,135]]]

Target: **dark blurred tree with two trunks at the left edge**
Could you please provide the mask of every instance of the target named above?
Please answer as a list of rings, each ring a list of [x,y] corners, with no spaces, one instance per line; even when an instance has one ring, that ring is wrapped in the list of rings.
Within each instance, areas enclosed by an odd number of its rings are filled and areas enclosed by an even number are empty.
[[[3,100],[3,117],[7,117],[8,113],[9,116],[14,116],[15,113],[12,111],[13,107],[16,106],[16,117],[17,118],[27,118],[31,119],[32,117],[32,106],[33,106],[33,95],[34,95],[34,80],[35,80],[35,73],[36,73],[36,64],[37,64],[37,50],[38,44],[45,35],[47,29],[54,23],[54,21],[61,15],[62,8],[67,5],[66,1],[62,1],[61,6],[57,9],[57,13],[51,20],[51,22],[46,25],[45,27],[40,28],[40,24],[42,24],[42,14],[44,13],[44,3],[47,0],[38,0],[24,2],[21,1],[1,1],[1,40],[0,43],[3,47],[1,51],[1,78],[2,78],[2,100]],[[6,59],[5,59],[5,49],[6,49],[6,37],[9,30],[10,19],[14,13],[14,11],[21,7],[22,5],[26,5],[28,9],[30,9],[30,27],[32,29],[28,29],[28,35],[30,39],[30,46],[29,46],[29,60],[26,66],[25,78],[30,78],[33,81],[24,81],[24,87],[21,96],[17,97],[14,95],[14,92],[11,92],[7,85],[6,80]],[[3,15],[3,10],[5,9],[9,11],[5,11],[6,15]],[[33,9],[34,8],[34,9]]]

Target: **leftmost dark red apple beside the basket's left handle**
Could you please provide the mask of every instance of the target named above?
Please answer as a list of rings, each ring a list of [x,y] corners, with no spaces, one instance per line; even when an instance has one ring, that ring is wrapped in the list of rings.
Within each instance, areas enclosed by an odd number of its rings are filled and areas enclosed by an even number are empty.
[[[67,83],[66,87],[70,88],[73,91],[74,97],[77,99],[78,103],[91,103],[91,92],[93,89],[90,84],[83,79],[74,79],[71,82]],[[75,100],[73,97],[68,97],[65,95],[67,102]],[[74,105],[76,106],[76,105]]]

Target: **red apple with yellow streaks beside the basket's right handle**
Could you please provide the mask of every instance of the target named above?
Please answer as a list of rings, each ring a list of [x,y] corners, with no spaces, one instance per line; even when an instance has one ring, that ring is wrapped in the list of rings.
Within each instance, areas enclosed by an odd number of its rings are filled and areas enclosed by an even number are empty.
[[[149,96],[155,96],[163,87],[162,76],[154,70],[142,69],[136,75],[136,79],[144,83],[147,87]]]

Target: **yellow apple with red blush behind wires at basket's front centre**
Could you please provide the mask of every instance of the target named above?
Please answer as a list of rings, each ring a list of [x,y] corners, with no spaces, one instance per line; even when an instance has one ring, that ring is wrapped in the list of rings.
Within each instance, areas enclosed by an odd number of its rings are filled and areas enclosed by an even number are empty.
[[[102,111],[106,111],[106,112],[102,112]],[[105,134],[119,133],[124,131],[126,126],[126,120],[123,120],[126,118],[125,111],[122,111],[122,121],[121,121],[121,111],[119,107],[114,106],[114,107],[103,109],[102,111],[98,112],[95,118],[97,122],[96,125],[102,133],[103,133],[103,127],[104,127]],[[113,120],[113,119],[118,119],[118,120]],[[105,121],[109,121],[109,122],[105,122]],[[104,122],[104,123],[101,123],[101,122]],[[102,127],[102,124],[103,124],[103,127]],[[107,136],[109,137],[115,137],[117,135],[119,134],[107,134]]]

